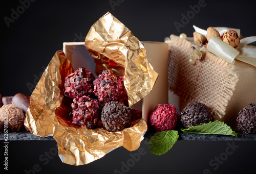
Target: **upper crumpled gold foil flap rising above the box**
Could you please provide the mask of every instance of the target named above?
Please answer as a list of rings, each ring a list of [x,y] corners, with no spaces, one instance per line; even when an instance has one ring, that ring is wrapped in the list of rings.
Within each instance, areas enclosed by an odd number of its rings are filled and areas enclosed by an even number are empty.
[[[134,34],[111,13],[93,24],[84,42],[95,59],[109,58],[124,69],[124,86],[129,106],[153,89],[158,78],[146,59],[146,50]]]

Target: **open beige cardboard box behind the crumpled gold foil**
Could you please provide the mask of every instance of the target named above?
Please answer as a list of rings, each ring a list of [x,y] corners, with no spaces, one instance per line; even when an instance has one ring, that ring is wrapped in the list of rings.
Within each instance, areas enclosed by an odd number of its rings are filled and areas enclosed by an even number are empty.
[[[143,119],[148,125],[148,115],[154,108],[158,104],[168,103],[168,44],[149,41],[143,41],[142,44],[146,49],[147,61],[159,76],[152,91],[131,108],[142,111]],[[74,70],[84,66],[97,77],[94,58],[89,55],[84,42],[64,42],[63,52],[71,61]]]

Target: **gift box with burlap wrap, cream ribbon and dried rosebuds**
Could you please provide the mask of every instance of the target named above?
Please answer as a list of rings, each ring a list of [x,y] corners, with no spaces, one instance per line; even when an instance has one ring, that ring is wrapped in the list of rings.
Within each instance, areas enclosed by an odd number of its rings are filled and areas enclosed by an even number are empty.
[[[256,36],[243,38],[239,29],[193,26],[193,37],[170,35],[169,102],[183,110],[204,103],[214,120],[238,131],[240,110],[256,103]],[[184,37],[185,35],[185,37]]]

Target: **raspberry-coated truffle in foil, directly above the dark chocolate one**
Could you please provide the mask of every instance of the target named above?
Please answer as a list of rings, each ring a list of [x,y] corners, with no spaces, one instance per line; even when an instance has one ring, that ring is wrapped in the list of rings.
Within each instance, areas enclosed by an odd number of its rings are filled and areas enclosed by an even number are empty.
[[[109,70],[104,70],[99,74],[98,78],[93,81],[94,94],[98,97],[98,101],[103,104],[118,101],[119,91],[117,87],[117,77],[111,74]]]

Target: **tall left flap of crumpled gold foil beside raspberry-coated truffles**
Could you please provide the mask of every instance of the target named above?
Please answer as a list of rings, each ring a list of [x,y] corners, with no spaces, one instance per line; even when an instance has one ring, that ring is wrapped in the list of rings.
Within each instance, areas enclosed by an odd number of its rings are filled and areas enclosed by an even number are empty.
[[[40,137],[53,133],[55,109],[63,98],[65,77],[73,72],[72,65],[62,51],[56,52],[30,96],[25,126]]]

